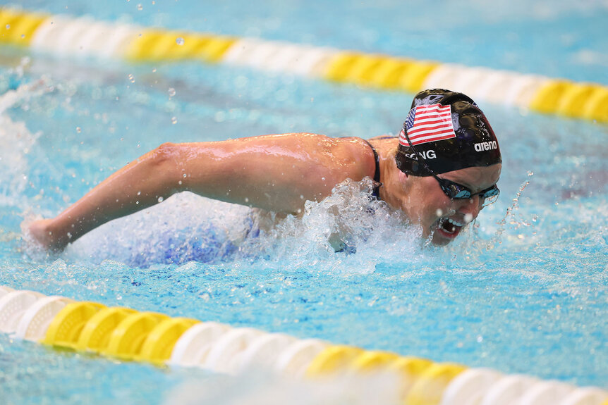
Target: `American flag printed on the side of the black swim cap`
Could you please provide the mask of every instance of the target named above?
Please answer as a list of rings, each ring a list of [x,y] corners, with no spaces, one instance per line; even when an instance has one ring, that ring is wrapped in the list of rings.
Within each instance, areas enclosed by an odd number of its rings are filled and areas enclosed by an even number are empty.
[[[451,106],[429,104],[412,108],[406,120],[406,131],[412,145],[455,138]],[[410,146],[403,131],[399,134],[399,143],[404,147]]]

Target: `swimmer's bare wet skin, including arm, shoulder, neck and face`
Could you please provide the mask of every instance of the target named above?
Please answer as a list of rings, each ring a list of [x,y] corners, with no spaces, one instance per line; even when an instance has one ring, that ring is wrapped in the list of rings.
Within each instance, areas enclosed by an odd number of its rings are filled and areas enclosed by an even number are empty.
[[[380,156],[380,199],[421,225],[422,237],[432,235],[432,242],[439,245],[451,242],[463,225],[478,216],[479,197],[452,201],[433,177],[402,173],[394,159],[397,142],[371,139]],[[182,191],[297,215],[306,200],[320,201],[347,178],[359,181],[374,173],[370,147],[355,137],[300,133],[163,144],[99,183],[56,218],[37,220],[25,228],[44,248],[61,250],[99,225]],[[440,177],[478,192],[494,185],[499,175],[498,164]]]

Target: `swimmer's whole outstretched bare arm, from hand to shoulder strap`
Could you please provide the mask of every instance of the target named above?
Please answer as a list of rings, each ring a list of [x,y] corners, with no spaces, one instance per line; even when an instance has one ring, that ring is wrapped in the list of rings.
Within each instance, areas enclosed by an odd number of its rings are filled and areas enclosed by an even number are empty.
[[[99,225],[157,204],[176,192],[298,213],[350,177],[373,175],[365,142],[290,134],[224,142],[163,144],[99,183],[56,218],[30,225],[44,247],[63,249]]]

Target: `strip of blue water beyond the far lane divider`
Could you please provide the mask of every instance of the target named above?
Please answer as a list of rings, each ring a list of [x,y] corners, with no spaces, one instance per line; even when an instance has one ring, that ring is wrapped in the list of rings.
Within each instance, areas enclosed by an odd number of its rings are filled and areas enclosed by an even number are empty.
[[[608,85],[605,1],[102,1],[23,0],[47,13],[91,15],[174,30],[214,32],[381,52]]]

